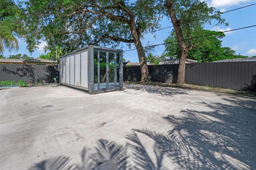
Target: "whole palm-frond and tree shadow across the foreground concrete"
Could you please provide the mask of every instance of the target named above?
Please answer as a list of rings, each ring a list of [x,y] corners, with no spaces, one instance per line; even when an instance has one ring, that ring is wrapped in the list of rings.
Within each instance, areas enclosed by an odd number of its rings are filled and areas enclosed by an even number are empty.
[[[94,148],[82,150],[81,165],[68,167],[255,169],[256,101],[239,97],[222,100],[222,103],[203,103],[209,111],[186,109],[180,111],[179,116],[163,117],[170,123],[165,132],[156,132],[150,127],[134,129],[126,135],[125,146],[101,139]],[[33,167],[46,167],[38,166],[41,164],[55,167],[54,164],[60,162],[53,158]]]

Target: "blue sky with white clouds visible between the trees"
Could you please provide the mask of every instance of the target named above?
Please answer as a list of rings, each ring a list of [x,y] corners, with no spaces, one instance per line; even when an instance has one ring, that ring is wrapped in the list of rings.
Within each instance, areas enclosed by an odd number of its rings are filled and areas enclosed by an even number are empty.
[[[240,8],[242,6],[247,6],[250,4],[256,3],[256,0],[208,0],[208,6],[214,6],[222,12],[232,10],[235,8]],[[221,25],[214,26],[216,23],[212,23],[212,25],[205,25],[206,30],[215,30],[215,31],[226,31],[233,30],[236,28],[242,28],[246,26],[256,25],[256,5],[249,6],[247,8],[242,8],[240,10],[227,12],[222,14],[222,18],[228,22],[229,26]],[[160,22],[162,28],[166,28],[172,26],[169,17],[164,17]],[[155,45],[164,43],[164,40],[170,35],[172,28],[164,29],[155,32],[155,37],[153,34],[145,34],[144,40],[142,40],[142,45]],[[37,58],[39,55],[44,54],[44,45],[45,42],[41,43],[32,54],[29,53],[28,49],[26,49],[26,42],[22,40],[18,40],[19,50],[17,52],[12,51],[9,53],[7,50],[4,52],[4,56],[8,57],[9,55],[14,54],[27,54],[34,58]],[[126,43],[122,43],[123,50],[128,50],[128,46]],[[246,28],[243,30],[236,30],[232,32],[225,33],[225,37],[222,39],[223,47],[230,47],[236,54],[253,56],[256,55],[256,27]],[[133,49],[134,47],[132,47]],[[165,46],[159,45],[154,48],[154,55],[160,55],[164,52]],[[138,62],[138,53],[136,50],[125,51],[124,59],[126,61],[130,60],[131,62]]]

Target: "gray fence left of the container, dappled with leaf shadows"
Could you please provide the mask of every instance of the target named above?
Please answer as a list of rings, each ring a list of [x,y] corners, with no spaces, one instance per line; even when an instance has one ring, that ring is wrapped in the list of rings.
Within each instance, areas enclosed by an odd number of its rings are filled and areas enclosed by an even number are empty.
[[[58,82],[59,71],[56,65],[0,64],[0,81],[24,80],[26,83],[54,83],[54,78]]]

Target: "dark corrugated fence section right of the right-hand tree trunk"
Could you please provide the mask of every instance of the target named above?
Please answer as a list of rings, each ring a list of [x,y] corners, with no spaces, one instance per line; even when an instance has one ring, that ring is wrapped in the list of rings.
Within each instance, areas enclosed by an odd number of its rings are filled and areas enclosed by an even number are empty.
[[[240,90],[251,84],[256,70],[255,61],[189,63],[185,82]]]

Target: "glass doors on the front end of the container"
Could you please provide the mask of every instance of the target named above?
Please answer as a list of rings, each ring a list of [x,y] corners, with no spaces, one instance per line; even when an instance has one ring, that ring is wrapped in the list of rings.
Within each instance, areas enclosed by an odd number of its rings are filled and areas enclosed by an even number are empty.
[[[97,55],[96,55],[97,54]],[[119,54],[94,51],[94,91],[119,87]]]

